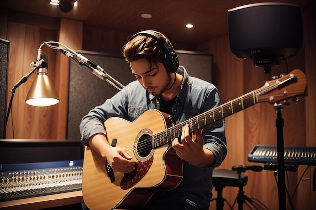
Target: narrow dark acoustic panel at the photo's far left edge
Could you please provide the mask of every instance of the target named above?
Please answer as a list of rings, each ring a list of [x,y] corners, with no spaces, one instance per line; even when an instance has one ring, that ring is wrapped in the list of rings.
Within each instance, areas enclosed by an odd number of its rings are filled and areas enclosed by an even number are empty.
[[[9,41],[0,39],[0,138],[6,133],[8,61]]]

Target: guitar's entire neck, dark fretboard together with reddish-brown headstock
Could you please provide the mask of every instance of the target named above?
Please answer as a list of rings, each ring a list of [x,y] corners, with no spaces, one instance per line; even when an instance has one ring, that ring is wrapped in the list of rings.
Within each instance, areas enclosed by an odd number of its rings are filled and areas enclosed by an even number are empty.
[[[293,96],[304,94],[306,90],[305,74],[295,69],[281,78],[266,81],[264,86],[240,96],[232,101],[222,104],[214,109],[197,115],[182,123],[174,125],[152,136],[152,148],[168,144],[181,136],[182,127],[189,124],[190,133],[201,129],[218,120],[235,114],[259,102],[275,103]]]

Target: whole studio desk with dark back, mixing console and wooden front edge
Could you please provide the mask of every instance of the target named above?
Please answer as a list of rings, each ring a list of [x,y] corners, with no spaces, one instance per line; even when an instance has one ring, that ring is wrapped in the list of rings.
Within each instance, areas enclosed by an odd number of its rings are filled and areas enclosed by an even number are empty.
[[[0,140],[0,208],[83,203],[79,141]]]

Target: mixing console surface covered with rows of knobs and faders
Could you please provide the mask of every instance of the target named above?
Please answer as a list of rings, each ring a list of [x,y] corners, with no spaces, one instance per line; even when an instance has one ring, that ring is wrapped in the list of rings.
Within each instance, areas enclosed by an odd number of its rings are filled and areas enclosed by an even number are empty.
[[[82,160],[0,165],[0,202],[81,190]]]

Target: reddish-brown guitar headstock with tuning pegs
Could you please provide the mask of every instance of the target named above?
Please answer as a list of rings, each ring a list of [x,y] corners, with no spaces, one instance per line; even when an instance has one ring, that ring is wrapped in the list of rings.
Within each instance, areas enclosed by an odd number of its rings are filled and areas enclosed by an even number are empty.
[[[257,102],[275,103],[303,95],[306,90],[306,83],[305,74],[295,69],[283,77],[266,81],[264,86],[255,90]]]

